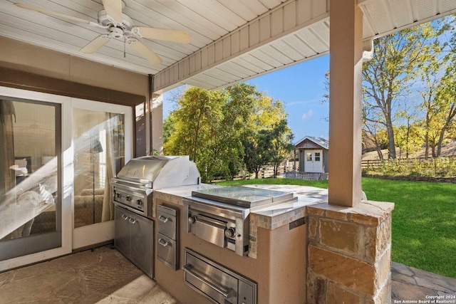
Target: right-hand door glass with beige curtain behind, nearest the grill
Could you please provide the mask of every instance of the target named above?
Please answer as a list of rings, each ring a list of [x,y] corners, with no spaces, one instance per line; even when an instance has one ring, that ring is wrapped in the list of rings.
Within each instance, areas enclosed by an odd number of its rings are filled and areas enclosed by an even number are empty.
[[[114,219],[109,181],[125,163],[125,115],[73,108],[74,228]]]

